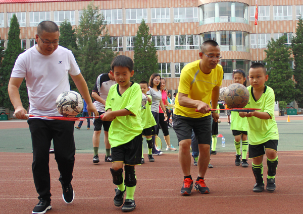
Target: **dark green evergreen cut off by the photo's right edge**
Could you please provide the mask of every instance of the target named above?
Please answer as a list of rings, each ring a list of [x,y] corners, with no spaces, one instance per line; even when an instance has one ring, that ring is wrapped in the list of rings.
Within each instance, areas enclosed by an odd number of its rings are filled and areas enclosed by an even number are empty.
[[[300,16],[296,36],[292,38],[291,48],[294,57],[293,77],[296,82],[294,99],[299,108],[303,108],[303,20]]]

